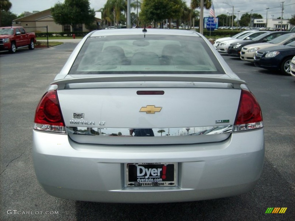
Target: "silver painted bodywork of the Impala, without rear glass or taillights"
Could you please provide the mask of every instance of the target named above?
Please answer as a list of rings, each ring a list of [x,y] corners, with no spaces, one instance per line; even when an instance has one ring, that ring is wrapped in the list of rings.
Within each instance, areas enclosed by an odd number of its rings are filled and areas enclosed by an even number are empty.
[[[68,75],[88,38],[128,34],[202,38],[222,71],[173,76]],[[40,185],[55,197],[116,203],[184,202],[243,194],[258,182],[264,159],[263,128],[233,132],[246,83],[197,32],[91,32],[47,88],[51,89],[58,96],[64,131],[45,132],[38,130],[42,124],[35,124],[32,153]],[[154,90],[164,93],[137,93]],[[151,110],[145,109],[148,106]],[[155,136],[130,136],[129,129],[151,129]],[[127,165],[165,162],[176,168],[172,186],[127,185]]]

